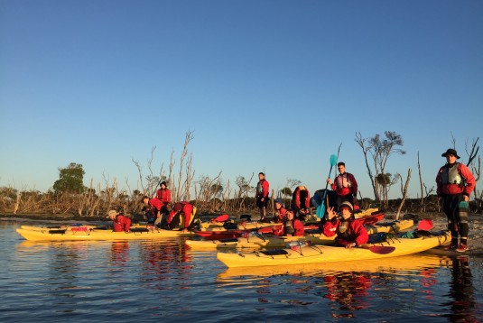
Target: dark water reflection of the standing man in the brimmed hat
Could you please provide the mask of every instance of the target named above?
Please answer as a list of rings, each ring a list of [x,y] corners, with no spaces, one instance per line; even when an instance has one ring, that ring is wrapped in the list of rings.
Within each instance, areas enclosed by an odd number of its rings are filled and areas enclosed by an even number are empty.
[[[479,322],[475,317],[477,300],[472,275],[469,270],[468,256],[460,256],[453,261],[452,277],[450,281],[450,309],[452,313],[446,315],[451,322]]]

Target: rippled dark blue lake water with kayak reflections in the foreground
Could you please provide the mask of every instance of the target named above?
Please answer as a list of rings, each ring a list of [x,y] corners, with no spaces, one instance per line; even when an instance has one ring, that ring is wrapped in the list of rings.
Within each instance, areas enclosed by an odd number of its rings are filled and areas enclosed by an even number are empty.
[[[182,238],[30,243],[18,226],[0,221],[0,322],[483,321],[480,258],[228,270]]]

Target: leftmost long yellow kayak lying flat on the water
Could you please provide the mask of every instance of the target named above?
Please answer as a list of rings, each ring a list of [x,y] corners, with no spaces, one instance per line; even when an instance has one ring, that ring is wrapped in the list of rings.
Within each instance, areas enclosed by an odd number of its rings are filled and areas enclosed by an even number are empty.
[[[19,235],[29,241],[72,241],[72,240],[153,240],[173,236],[192,236],[192,232],[183,233],[179,230],[163,230],[146,228],[131,228],[127,233],[87,228],[85,230],[45,229],[30,230],[16,229]]]

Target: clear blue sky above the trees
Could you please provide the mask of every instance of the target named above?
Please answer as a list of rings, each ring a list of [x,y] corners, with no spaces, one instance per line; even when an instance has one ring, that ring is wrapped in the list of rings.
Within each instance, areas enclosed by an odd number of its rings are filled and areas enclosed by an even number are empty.
[[[356,133],[394,131],[387,172],[419,196],[441,153],[482,137],[483,1],[0,1],[0,187],[137,187],[178,160],[195,178],[266,172],[325,187],[330,154],[374,198]],[[332,171],[332,177],[334,171]],[[401,197],[399,185],[392,198]]]

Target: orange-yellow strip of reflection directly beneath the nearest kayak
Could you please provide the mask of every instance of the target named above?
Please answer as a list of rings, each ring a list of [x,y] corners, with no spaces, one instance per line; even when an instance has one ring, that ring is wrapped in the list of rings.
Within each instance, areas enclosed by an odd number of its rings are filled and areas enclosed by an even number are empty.
[[[292,266],[260,266],[246,270],[245,267],[228,268],[218,274],[220,279],[229,279],[238,276],[274,276],[274,275],[300,275],[314,276],[333,274],[337,272],[387,272],[395,275],[406,276],[406,272],[423,271],[424,269],[447,267],[451,265],[451,259],[436,255],[410,254],[400,257],[391,257],[387,261],[380,259],[367,260],[364,262],[341,262],[341,263],[306,263]]]

